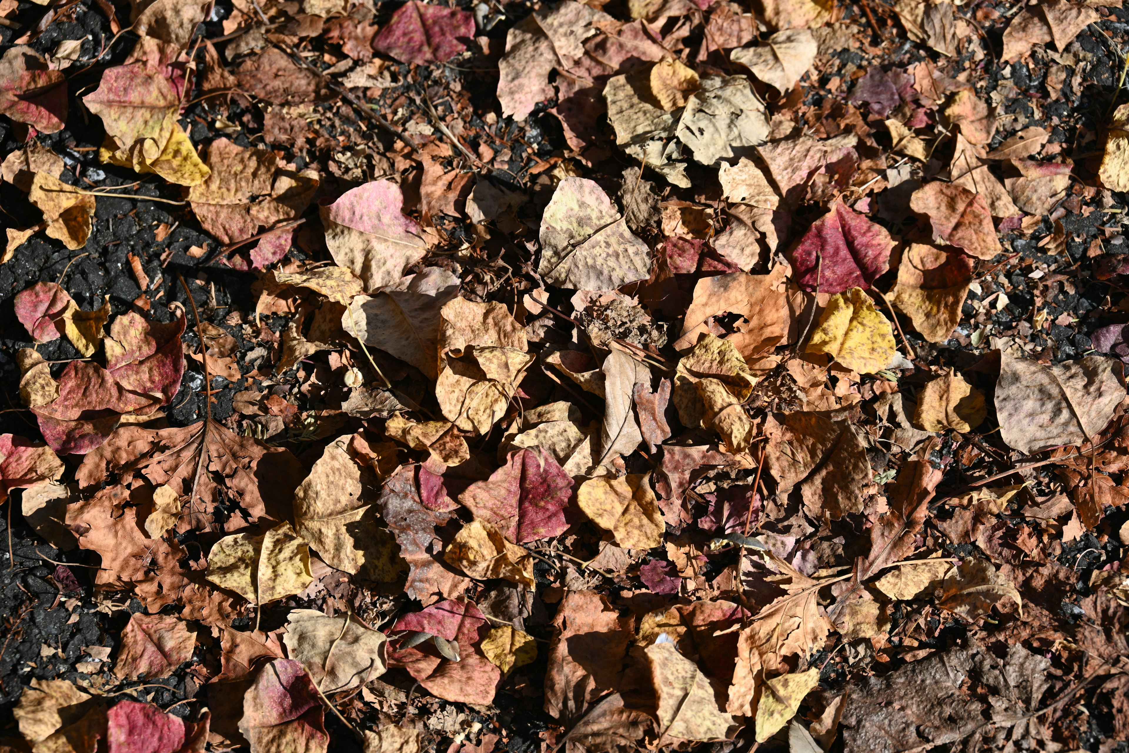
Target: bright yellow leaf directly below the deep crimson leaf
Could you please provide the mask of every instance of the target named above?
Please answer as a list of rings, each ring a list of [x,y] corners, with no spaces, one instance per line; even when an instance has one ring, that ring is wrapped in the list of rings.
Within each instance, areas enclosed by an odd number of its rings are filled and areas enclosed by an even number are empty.
[[[890,319],[861,288],[851,288],[828,301],[807,352],[826,353],[859,374],[874,374],[886,368],[898,348]]]

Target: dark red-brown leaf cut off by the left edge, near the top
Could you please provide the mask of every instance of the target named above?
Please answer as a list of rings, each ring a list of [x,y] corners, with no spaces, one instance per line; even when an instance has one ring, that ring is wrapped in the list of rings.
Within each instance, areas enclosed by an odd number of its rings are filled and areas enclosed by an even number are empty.
[[[55,133],[67,124],[67,77],[26,45],[0,58],[0,115]]]

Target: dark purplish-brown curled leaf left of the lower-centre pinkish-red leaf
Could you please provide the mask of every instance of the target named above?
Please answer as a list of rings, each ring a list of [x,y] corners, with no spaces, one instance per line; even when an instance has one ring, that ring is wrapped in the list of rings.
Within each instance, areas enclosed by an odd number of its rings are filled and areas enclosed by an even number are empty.
[[[377,504],[388,531],[400,544],[400,555],[408,562],[404,593],[428,605],[439,598],[461,595],[471,581],[444,562],[444,542],[436,528],[452,516],[449,510],[423,506],[414,471],[411,466],[402,467],[385,479]]]

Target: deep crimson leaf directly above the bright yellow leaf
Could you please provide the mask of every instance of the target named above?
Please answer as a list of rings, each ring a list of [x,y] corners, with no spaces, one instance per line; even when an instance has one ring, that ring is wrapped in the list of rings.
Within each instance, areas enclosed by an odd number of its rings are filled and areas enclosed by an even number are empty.
[[[885,228],[837,200],[804,234],[791,259],[802,288],[834,295],[869,288],[890,269],[893,247]]]

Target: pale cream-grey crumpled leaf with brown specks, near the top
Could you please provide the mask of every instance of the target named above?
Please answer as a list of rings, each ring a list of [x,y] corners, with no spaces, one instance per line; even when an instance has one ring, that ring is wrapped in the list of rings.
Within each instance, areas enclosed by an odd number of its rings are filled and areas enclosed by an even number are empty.
[[[679,119],[675,135],[702,165],[734,156],[735,147],[755,147],[769,138],[764,105],[744,76],[703,76]]]

